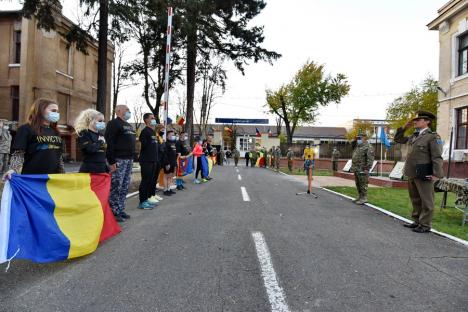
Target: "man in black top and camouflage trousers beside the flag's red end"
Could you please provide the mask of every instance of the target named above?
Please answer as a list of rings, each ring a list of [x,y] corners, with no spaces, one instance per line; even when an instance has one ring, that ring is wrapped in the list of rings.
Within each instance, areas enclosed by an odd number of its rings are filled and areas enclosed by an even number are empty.
[[[112,173],[109,204],[118,222],[129,219],[125,210],[125,200],[132,177],[133,157],[135,153],[135,130],[128,123],[132,114],[126,105],[115,107],[117,117],[108,122],[105,139],[106,157]]]

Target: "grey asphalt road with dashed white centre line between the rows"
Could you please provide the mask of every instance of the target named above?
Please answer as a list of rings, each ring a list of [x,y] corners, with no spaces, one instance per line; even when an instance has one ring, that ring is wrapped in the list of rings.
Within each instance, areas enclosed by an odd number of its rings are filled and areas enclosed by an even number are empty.
[[[132,219],[90,256],[2,266],[0,311],[468,311],[466,247],[323,190],[296,196],[270,170],[213,177],[153,211],[128,200]]]

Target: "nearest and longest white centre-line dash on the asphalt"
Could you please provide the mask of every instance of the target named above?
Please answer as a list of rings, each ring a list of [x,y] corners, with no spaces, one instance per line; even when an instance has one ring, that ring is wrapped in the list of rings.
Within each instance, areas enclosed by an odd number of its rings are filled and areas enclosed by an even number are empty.
[[[270,301],[272,312],[289,312],[288,303],[283,288],[278,284],[273,263],[271,261],[270,251],[265,242],[265,237],[261,232],[252,232],[252,238],[257,250],[258,262],[262,269],[263,283]]]

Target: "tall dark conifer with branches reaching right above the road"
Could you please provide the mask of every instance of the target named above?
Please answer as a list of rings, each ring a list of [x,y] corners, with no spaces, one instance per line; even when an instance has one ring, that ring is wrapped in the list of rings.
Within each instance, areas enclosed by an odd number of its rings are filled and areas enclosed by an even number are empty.
[[[272,62],[281,55],[261,47],[263,27],[249,26],[250,21],[265,8],[264,0],[174,0],[176,15],[182,17],[179,26],[184,34],[187,58],[187,123],[186,131],[193,141],[193,103],[196,83],[197,56],[209,57],[216,51],[231,59],[244,73],[249,60]]]

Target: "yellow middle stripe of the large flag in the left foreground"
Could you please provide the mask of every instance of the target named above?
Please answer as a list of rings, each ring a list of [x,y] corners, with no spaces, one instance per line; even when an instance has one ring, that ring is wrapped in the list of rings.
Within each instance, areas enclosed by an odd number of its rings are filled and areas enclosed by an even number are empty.
[[[70,240],[68,259],[96,250],[104,214],[91,189],[91,176],[85,173],[50,174],[47,190],[55,202],[54,217]]]

